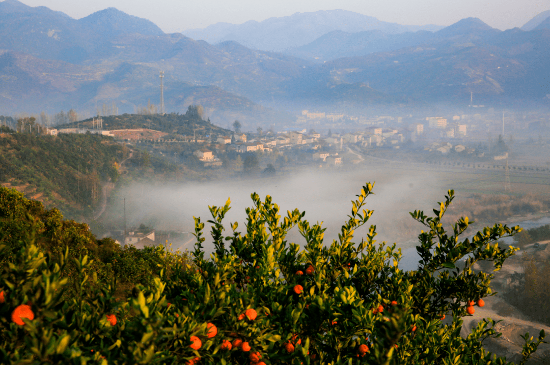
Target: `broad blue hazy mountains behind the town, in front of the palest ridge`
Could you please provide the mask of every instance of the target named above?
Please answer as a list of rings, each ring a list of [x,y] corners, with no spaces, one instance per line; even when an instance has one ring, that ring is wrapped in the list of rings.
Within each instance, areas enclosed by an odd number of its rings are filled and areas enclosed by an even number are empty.
[[[317,15],[327,23],[329,13]],[[336,19],[340,10],[335,14]],[[287,110],[345,103],[414,108],[465,105],[474,92],[484,104],[548,105],[547,21],[537,20],[530,31],[503,32],[476,18],[433,32],[397,25],[393,29],[399,32],[393,33],[333,30],[276,53],[235,41],[212,45],[165,34],[114,8],[74,20],[5,0],[0,2],[0,114],[70,108],[95,113],[112,102],[121,113],[133,113],[149,99],[158,104],[160,70],[166,75],[167,111],[202,104],[211,118],[245,125],[289,118],[262,104]]]

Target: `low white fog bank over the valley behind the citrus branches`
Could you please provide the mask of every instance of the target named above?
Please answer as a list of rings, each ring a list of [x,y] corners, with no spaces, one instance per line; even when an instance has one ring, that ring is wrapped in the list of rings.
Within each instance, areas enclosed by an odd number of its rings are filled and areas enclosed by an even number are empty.
[[[201,221],[206,223],[211,218],[208,205],[222,206],[229,197],[232,208],[224,226],[226,235],[231,235],[230,222],[237,221],[237,230],[245,231],[245,208],[252,205],[250,194],[256,192],[262,200],[269,194],[273,203],[281,207],[282,216],[286,216],[287,210],[298,208],[306,212],[304,219],[310,224],[322,221],[322,226],[327,228],[324,243],[330,245],[333,239],[338,238],[340,227],[351,212],[351,199],[355,198],[366,182],[375,181],[375,195],[367,199],[366,205],[367,209],[375,212],[369,223],[355,232],[354,242],[359,243],[370,224],[375,224],[378,242],[397,242],[398,248],[409,249],[407,252],[412,253],[415,260],[403,260],[409,262],[401,262],[401,268],[412,269],[417,259],[416,251],[411,248],[417,243],[416,236],[422,226],[412,220],[409,212],[421,209],[427,215],[433,214],[432,209],[438,207],[436,202],[443,200],[447,189],[452,188],[441,187],[438,179],[425,171],[362,167],[355,171],[314,170],[289,173],[284,177],[217,183],[185,183],[165,187],[134,185],[120,194],[119,198],[126,198],[129,227],[145,223],[158,230],[193,232],[193,216],[201,217]],[[206,252],[213,251],[209,229],[206,224]],[[304,245],[298,227],[289,232],[287,240]],[[174,245],[176,248],[193,250],[194,243],[194,239],[189,239],[179,244],[174,242]]]

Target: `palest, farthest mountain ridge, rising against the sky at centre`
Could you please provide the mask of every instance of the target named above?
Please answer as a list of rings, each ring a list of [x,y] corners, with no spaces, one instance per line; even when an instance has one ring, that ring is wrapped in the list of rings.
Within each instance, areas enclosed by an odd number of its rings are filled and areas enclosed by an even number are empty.
[[[332,31],[361,32],[379,30],[387,35],[419,30],[437,31],[439,25],[401,25],[381,21],[348,10],[319,10],[313,13],[295,13],[261,22],[249,20],[243,24],[216,23],[205,29],[184,30],[186,36],[211,44],[235,41],[252,49],[281,52],[289,47],[300,47]]]

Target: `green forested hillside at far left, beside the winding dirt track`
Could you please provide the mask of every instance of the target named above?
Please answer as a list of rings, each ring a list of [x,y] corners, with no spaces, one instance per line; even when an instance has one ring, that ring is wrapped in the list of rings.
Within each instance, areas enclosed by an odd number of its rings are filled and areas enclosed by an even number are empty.
[[[0,183],[70,215],[86,214],[101,196],[101,182],[116,181],[124,158],[122,145],[98,135],[2,134]]]

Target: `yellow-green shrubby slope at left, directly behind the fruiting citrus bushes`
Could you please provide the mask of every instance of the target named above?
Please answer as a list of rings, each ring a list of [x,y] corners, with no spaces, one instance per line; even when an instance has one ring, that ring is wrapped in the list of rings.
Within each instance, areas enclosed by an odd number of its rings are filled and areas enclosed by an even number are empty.
[[[161,262],[164,265],[190,262],[188,254],[170,252],[162,247],[138,250],[131,246],[122,248],[111,238],[96,239],[86,224],[64,220],[59,210],[44,209],[39,201],[25,199],[15,189],[0,187],[0,244],[4,246],[0,252],[0,267],[15,262],[21,249],[31,240],[52,258],[69,249],[68,262],[60,273],[61,279],[69,280],[62,291],[63,300],[77,296],[73,279],[79,276],[75,259],[80,257],[88,257],[92,262],[90,269],[102,282],[117,279],[124,287],[152,285],[153,279],[160,275],[158,265]]]

